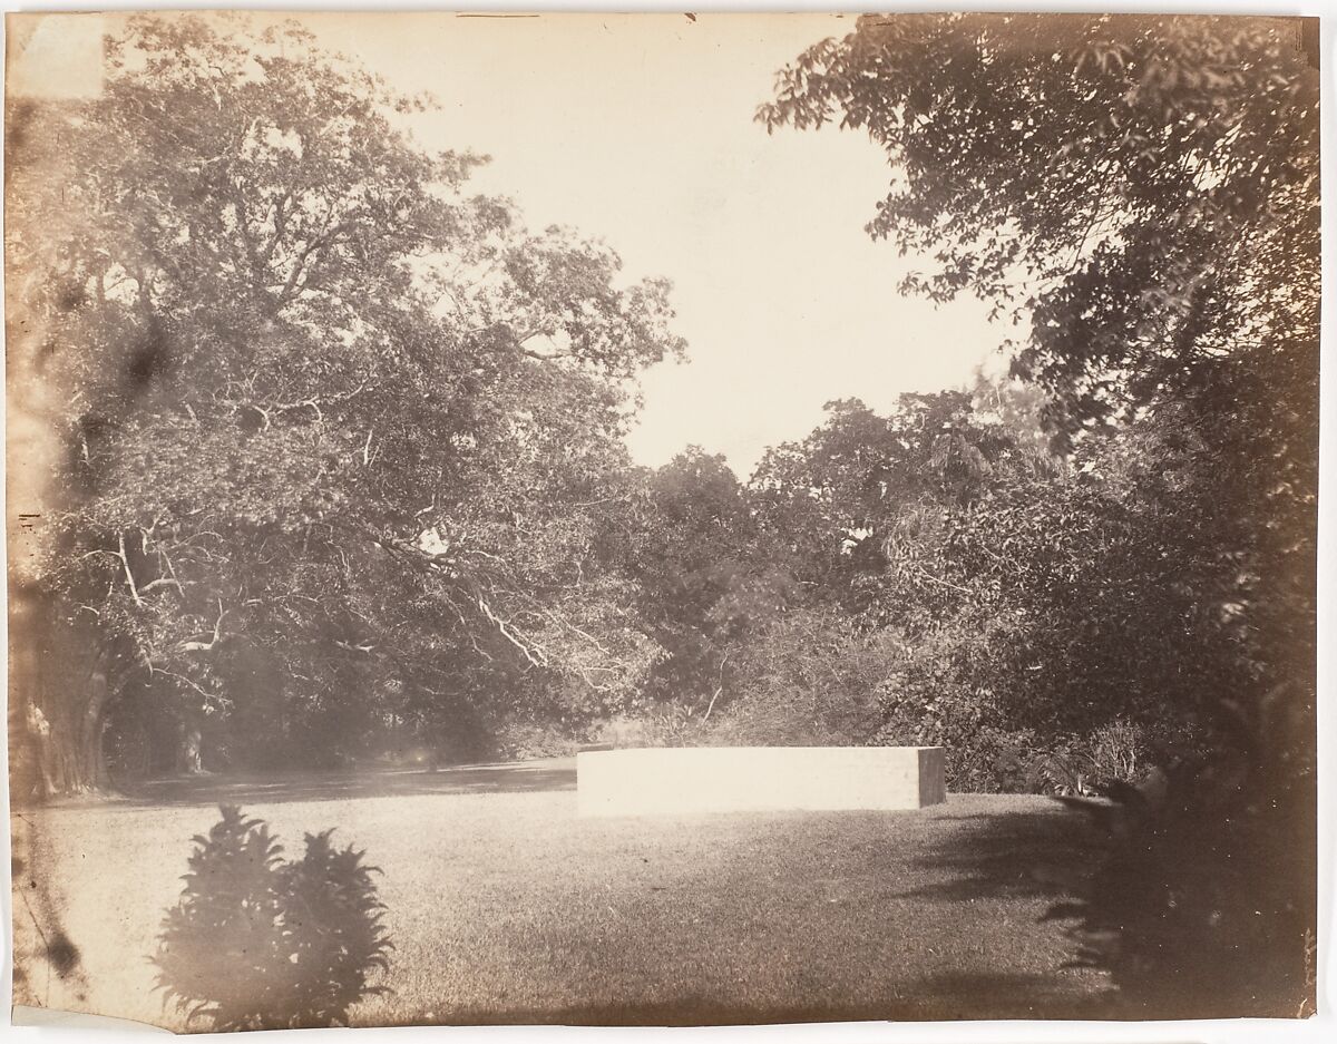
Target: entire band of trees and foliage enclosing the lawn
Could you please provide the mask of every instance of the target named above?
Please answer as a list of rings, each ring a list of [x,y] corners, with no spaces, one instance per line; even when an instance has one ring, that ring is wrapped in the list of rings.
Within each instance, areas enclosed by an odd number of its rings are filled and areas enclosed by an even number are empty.
[[[1294,985],[1298,24],[869,17],[800,56],[759,118],[884,146],[869,231],[936,266],[902,290],[989,299],[1019,341],[1005,380],[830,404],[741,483],[623,448],[636,373],[683,348],[666,281],[472,194],[483,158],[424,152],[422,102],[299,28],[128,19],[100,98],[7,120],[11,503],[40,516],[11,520],[16,795],[610,733],[943,745],[955,789],[1154,791],[1143,849],[1197,845],[1206,884],[1136,873]],[[1266,924],[1218,929],[1263,880]]]

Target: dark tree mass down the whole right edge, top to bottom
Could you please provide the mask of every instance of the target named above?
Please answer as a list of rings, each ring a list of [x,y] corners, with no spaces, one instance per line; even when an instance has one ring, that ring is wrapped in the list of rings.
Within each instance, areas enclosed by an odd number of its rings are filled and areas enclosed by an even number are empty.
[[[993,505],[952,557],[1042,595],[1012,643],[1042,671],[1155,679],[1177,712],[1207,719],[1225,767],[1173,777],[1152,827],[1201,853],[1197,880],[1170,860],[1132,870],[1154,886],[1123,894],[1213,882],[1215,912],[1177,922],[1194,933],[1186,980],[1222,981],[1219,968],[1258,991],[1273,962],[1297,997],[1316,862],[1317,64],[1312,19],[865,17],[800,56],[759,112],[771,128],[865,130],[893,170],[869,231],[936,265],[904,289],[973,293],[1025,325],[1013,373],[1046,392],[1078,475],[1055,505]],[[1076,525],[1029,524],[1051,507]],[[989,565],[1008,533],[1021,561]],[[1080,539],[1046,556],[1028,533]],[[1111,623],[1122,668],[1103,639],[1091,660],[1070,655]],[[1115,862],[1106,897],[1136,866]],[[1092,928],[1130,925],[1116,976],[1161,976],[1143,929],[1165,910],[1100,906]],[[1280,1003],[1239,995],[1229,1013]]]

